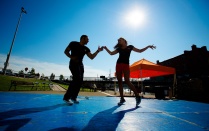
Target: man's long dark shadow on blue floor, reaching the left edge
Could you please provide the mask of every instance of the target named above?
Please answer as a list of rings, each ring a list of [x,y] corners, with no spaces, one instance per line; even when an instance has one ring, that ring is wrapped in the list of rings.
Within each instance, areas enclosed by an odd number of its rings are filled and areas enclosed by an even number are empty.
[[[24,126],[31,120],[31,118],[6,120],[8,118],[16,117],[19,115],[26,115],[26,114],[31,114],[31,113],[53,110],[62,106],[66,106],[66,104],[57,104],[57,105],[47,106],[47,107],[34,107],[34,108],[25,108],[25,109],[17,109],[17,110],[1,112],[0,113],[0,129],[3,126],[7,126],[5,130],[8,130],[8,131],[18,130],[19,128],[21,128],[22,126]]]

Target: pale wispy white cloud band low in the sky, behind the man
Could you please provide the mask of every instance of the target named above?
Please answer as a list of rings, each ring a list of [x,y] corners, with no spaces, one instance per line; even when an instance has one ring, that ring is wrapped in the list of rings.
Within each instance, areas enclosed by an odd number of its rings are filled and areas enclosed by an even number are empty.
[[[6,55],[0,54],[0,67],[4,67],[5,61]],[[42,62],[19,56],[10,57],[9,66],[7,67],[8,69],[12,69],[14,72],[19,72],[20,70],[24,70],[25,67],[28,67],[29,70],[31,70],[31,68],[34,68],[36,73],[43,73],[45,76],[50,76],[51,73],[55,74],[56,76],[59,76],[61,74],[64,76],[71,75],[68,65]],[[108,72],[85,65],[85,77],[97,77],[100,74],[108,74]]]

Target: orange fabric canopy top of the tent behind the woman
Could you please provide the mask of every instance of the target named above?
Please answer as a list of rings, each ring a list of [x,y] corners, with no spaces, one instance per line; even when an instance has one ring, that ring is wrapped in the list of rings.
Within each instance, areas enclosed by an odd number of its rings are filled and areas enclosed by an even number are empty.
[[[175,74],[175,68],[152,63],[146,59],[134,62],[130,66],[130,78],[146,78]]]

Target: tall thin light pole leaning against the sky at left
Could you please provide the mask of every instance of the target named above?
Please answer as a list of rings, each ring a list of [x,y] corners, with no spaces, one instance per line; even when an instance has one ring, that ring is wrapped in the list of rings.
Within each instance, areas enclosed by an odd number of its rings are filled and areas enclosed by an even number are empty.
[[[8,62],[9,62],[9,57],[10,57],[10,54],[11,54],[11,51],[12,51],[12,47],[13,47],[13,44],[14,44],[14,41],[15,41],[15,37],[16,37],[17,30],[18,30],[18,27],[19,27],[19,24],[20,24],[22,13],[27,14],[27,12],[25,11],[25,9],[23,7],[21,8],[20,17],[19,17],[19,20],[18,20],[18,23],[17,23],[17,26],[16,26],[16,30],[15,30],[15,34],[14,34],[14,37],[13,37],[13,40],[12,40],[12,44],[11,44],[11,47],[10,47],[10,50],[9,50],[9,54],[7,54],[7,59],[6,59],[6,62],[4,64],[4,70],[3,70],[3,74],[4,75],[6,74],[6,70],[7,70],[7,66],[8,66]]]

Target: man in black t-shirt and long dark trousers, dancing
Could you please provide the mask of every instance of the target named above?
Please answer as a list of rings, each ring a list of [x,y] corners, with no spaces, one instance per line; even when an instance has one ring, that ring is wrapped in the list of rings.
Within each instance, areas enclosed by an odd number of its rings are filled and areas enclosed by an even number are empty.
[[[95,53],[91,53],[90,49],[86,47],[89,42],[87,35],[80,37],[80,42],[72,41],[65,49],[64,53],[70,58],[69,69],[72,73],[73,80],[70,83],[67,92],[64,95],[63,100],[72,105],[73,103],[79,103],[77,96],[83,83],[83,57],[86,54],[90,59],[94,59],[97,54],[102,51],[102,48],[98,47]]]

